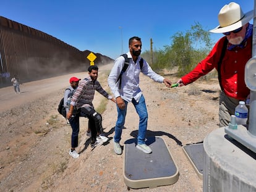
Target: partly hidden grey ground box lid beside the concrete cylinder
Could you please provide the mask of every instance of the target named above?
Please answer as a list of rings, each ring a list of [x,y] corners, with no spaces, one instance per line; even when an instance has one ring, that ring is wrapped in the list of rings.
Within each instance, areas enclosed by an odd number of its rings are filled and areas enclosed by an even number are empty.
[[[200,179],[203,179],[203,143],[182,146],[184,153]]]

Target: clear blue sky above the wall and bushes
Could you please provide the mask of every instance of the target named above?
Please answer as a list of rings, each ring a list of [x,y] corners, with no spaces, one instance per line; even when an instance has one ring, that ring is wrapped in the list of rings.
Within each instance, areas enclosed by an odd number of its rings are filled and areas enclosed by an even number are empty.
[[[163,49],[176,32],[195,22],[205,30],[218,26],[218,12],[231,1],[117,1],[117,0],[2,0],[0,15],[28,25],[84,51],[116,59],[128,51],[131,36],[142,38],[142,51]],[[254,9],[253,0],[234,1],[244,13]],[[250,21],[252,23],[252,21]],[[121,28],[120,28],[121,27]],[[211,33],[217,41],[222,35]]]

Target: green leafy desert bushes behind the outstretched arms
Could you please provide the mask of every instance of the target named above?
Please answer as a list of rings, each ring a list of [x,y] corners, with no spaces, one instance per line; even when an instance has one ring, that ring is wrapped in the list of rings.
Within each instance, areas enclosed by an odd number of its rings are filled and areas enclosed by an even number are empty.
[[[194,69],[195,65],[208,55],[214,44],[210,38],[210,32],[203,29],[198,22],[185,32],[175,33],[171,36],[171,40],[171,45],[153,50],[153,63],[150,66],[158,72],[162,69],[171,70],[177,67],[179,77]],[[144,51],[142,57],[150,61],[150,51]],[[211,75],[215,76],[216,72]]]

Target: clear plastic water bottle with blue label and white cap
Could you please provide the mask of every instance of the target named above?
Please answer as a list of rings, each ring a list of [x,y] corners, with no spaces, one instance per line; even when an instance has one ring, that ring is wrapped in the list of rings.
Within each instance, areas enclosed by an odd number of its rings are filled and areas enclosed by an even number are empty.
[[[245,106],[244,101],[239,101],[239,105],[235,109],[236,123],[237,125],[246,125],[248,118],[248,109]]]

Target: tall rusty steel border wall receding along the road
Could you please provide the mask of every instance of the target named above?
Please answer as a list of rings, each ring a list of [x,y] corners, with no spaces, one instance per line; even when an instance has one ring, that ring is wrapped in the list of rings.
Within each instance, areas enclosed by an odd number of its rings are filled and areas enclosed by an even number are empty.
[[[85,71],[90,65],[86,51],[42,31],[0,16],[0,87],[11,78],[32,81]]]

